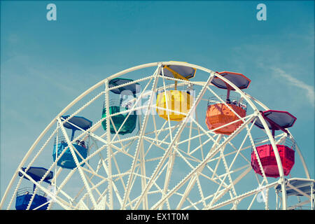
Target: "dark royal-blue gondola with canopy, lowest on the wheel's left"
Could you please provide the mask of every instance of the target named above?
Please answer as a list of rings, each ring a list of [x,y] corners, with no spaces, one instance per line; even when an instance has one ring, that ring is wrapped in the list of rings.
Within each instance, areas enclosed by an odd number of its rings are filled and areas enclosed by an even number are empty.
[[[22,171],[25,172],[26,168],[22,168]],[[43,167],[29,167],[27,171],[25,172],[27,175],[31,177],[34,181],[38,182],[40,181],[45,173],[48,171],[48,169],[45,169]],[[19,176],[23,176],[24,179],[29,179],[22,174],[22,172],[19,172]],[[50,184],[50,179],[53,177],[53,172],[49,172],[47,176],[45,176],[45,179],[43,179],[43,182]],[[34,194],[34,190],[36,188],[36,185],[34,184],[33,189],[31,188],[21,188],[18,190],[17,197],[15,200],[15,209],[17,210],[26,210],[29,202],[31,201],[31,197]],[[45,197],[45,193],[43,193],[41,190],[37,190],[36,195],[34,195],[34,200],[31,202],[31,206],[29,209],[33,210],[46,210],[48,208],[48,199]]]

